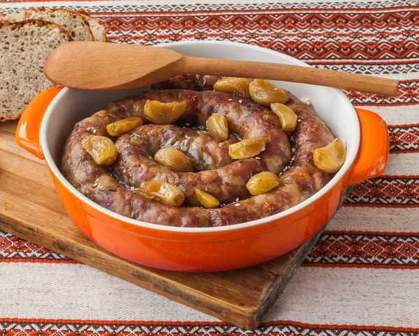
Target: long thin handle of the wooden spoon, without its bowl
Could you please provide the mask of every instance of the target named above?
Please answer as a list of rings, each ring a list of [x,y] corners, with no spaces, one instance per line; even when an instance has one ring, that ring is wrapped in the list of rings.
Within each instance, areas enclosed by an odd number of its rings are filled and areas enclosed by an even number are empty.
[[[197,73],[227,77],[248,77],[330,86],[337,89],[397,96],[399,82],[395,79],[358,75],[280,63],[205,59],[183,56],[179,73]]]

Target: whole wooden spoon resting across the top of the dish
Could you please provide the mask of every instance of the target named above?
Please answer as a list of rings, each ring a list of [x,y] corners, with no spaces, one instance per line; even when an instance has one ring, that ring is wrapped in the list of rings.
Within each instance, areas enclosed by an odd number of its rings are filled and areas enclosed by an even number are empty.
[[[395,79],[280,63],[204,59],[170,49],[118,43],[69,42],[55,49],[45,63],[45,77],[76,89],[130,89],[182,73],[275,79],[339,89],[397,96]]]

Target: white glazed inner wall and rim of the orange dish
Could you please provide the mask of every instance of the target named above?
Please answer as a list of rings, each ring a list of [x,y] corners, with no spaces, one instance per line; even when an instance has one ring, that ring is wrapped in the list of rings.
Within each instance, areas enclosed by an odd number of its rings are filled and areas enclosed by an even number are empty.
[[[307,66],[302,61],[293,59],[290,56],[274,52],[262,47],[254,47],[251,45],[244,45],[241,43],[217,42],[217,41],[187,41],[179,43],[167,43],[159,45],[158,47],[166,47],[176,50],[187,56],[209,57],[219,59],[237,59],[242,61],[264,61],[273,63],[288,63],[299,66]],[[89,75],[89,74],[86,74]],[[358,116],[355,113],[351,103],[348,101],[344,93],[337,89],[330,89],[323,86],[314,86],[307,84],[297,84],[289,82],[274,82],[275,84],[288,89],[298,98],[309,98],[311,103],[321,115],[325,123],[336,137],[339,137],[344,142],[347,149],[347,157],[344,166],[339,170],[336,176],[325,186],[320,192],[310,197],[301,204],[270,217],[265,217],[260,220],[246,222],[242,224],[235,224],[228,227],[210,227],[210,228],[184,228],[184,227],[166,227],[159,224],[150,224],[132,220],[128,217],[118,215],[112,211],[98,206],[93,201],[84,197],[80,192],[75,190],[73,186],[66,181],[59,171],[59,162],[61,158],[61,149],[64,142],[75,123],[90,116],[99,109],[105,107],[108,102],[112,100],[123,98],[142,91],[149,91],[149,86],[140,89],[119,90],[119,91],[84,91],[76,89],[63,89],[57,97],[52,101],[50,107],[47,109],[43,122],[41,125],[41,146],[45,155],[47,164],[52,169],[52,172],[57,176],[62,183],[75,194],[77,197],[87,202],[89,205],[98,208],[98,210],[106,213],[119,220],[124,220],[131,224],[149,227],[153,229],[165,231],[189,231],[189,232],[203,232],[203,231],[228,231],[232,229],[240,229],[258,225],[263,222],[284,217],[289,213],[299,211],[307,204],[314,202],[322,194],[325,194],[331,186],[343,176],[343,174],[351,167],[358,152],[360,142],[360,126]]]

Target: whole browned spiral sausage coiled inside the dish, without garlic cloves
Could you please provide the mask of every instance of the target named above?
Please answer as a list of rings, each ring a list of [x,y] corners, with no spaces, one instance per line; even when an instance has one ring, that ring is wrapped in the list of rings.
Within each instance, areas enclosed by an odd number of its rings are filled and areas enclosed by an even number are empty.
[[[176,81],[172,84],[176,86]],[[193,85],[194,89],[200,89],[196,82],[193,82]],[[311,197],[332,177],[331,174],[320,171],[312,160],[314,149],[330,143],[333,139],[332,134],[309,105],[288,91],[286,94],[286,105],[294,110],[299,119],[293,132],[295,160],[281,175],[279,188],[271,192],[247,198],[249,192],[244,185],[251,176],[260,171],[269,170],[279,174],[288,164],[291,146],[288,137],[279,128],[279,120],[251,100],[213,91],[156,91],[111,103],[103,111],[75,125],[64,146],[63,174],[75,188],[97,204],[121,215],[156,224],[214,227],[248,222],[279,213]],[[230,132],[239,137],[267,137],[266,150],[258,155],[260,160],[250,158],[232,162],[226,148],[231,142],[238,141],[235,135],[230,135],[223,144],[215,139],[210,141],[210,136],[197,128],[143,125],[117,139],[119,156],[111,169],[96,165],[81,148],[80,142],[83,137],[91,134],[110,137],[106,132],[106,125],[128,116],[140,116],[145,119],[143,109],[147,99],[161,102],[186,100],[187,108],[177,121],[178,125],[189,123],[198,127],[205,125],[212,113],[223,114],[228,119]],[[185,137],[186,135],[188,137]],[[191,151],[191,144],[194,142],[205,142],[207,148],[203,146],[203,150]],[[207,151],[214,144],[219,149],[214,147],[212,152]],[[218,146],[219,144],[221,145]],[[196,170],[204,170],[196,173],[174,173],[157,164],[152,160],[152,155],[164,146],[175,146],[184,151],[193,159]],[[207,153],[212,153],[212,160],[209,162],[203,160],[203,155]],[[142,169],[139,169],[138,164]],[[197,204],[193,194],[194,188],[212,190],[211,194],[216,194],[217,199],[226,203],[233,201],[235,197],[244,199],[216,209],[169,206],[147,199],[135,190],[139,183],[150,180],[163,180],[177,185],[184,191],[186,201],[191,205]]]

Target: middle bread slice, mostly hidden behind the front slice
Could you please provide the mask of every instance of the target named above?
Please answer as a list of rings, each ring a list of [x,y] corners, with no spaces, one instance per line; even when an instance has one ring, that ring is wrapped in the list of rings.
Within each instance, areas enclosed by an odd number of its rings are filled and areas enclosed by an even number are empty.
[[[89,22],[84,15],[64,8],[46,10],[43,7],[29,8],[20,13],[6,15],[3,20],[20,22],[24,20],[45,20],[64,28],[74,41],[94,41]]]

